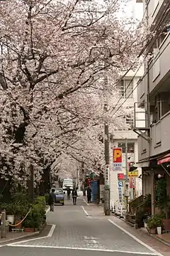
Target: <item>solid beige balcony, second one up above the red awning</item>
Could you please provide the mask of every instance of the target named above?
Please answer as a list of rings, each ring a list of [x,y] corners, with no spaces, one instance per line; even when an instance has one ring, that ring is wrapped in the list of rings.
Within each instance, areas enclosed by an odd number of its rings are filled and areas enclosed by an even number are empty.
[[[166,85],[167,79],[170,77],[170,33],[162,42],[159,48],[154,50],[154,58],[149,63],[149,93],[153,94],[159,89],[162,89],[162,85]],[[147,74],[142,79],[147,87]],[[169,90],[169,84],[166,85]]]

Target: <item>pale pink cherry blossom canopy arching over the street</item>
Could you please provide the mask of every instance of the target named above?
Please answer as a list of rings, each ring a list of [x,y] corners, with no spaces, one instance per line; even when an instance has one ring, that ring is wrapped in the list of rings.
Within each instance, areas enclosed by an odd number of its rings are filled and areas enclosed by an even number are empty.
[[[140,25],[118,18],[122,2],[1,4],[1,177],[26,185],[32,169],[38,181],[63,152],[67,161],[103,161],[103,122],[125,127],[125,109],[111,117],[115,85],[137,67],[146,40]]]

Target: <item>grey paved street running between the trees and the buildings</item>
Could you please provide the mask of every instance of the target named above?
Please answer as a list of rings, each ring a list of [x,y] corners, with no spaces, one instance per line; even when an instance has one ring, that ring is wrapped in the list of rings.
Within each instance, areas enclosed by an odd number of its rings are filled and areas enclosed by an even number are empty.
[[[77,206],[66,201],[65,206],[55,206],[55,212],[48,213],[47,223],[51,224],[48,235],[0,247],[0,255],[161,255],[110,220],[101,210],[95,212],[95,207],[86,206],[81,198]]]

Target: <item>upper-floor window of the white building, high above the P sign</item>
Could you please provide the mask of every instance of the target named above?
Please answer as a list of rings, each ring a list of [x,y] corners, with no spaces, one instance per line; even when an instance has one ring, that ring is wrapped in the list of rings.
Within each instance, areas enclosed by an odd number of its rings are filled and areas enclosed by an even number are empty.
[[[119,85],[120,95],[124,98],[131,98],[133,97],[132,90],[132,80],[121,80]]]

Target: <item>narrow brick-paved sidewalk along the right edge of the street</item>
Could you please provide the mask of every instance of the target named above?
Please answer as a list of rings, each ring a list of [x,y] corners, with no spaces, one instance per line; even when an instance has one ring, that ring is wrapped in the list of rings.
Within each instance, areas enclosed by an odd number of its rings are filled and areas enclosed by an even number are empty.
[[[153,247],[155,250],[161,252],[163,255],[170,256],[170,245],[168,245],[168,243],[166,244],[166,240],[163,240],[166,236],[168,237],[169,234],[164,234],[162,235],[163,238],[161,237],[161,239],[159,239],[160,235],[159,238],[157,238],[155,235],[151,236],[140,229],[136,230],[128,225],[125,220],[115,217],[114,215],[105,216],[103,213],[103,208],[101,206],[97,206],[95,203],[90,203],[89,205],[84,206],[84,208],[92,218],[103,216],[103,218],[110,219],[113,221],[113,223],[115,223],[115,225],[120,226],[120,228],[128,231],[130,234],[134,235],[142,242],[145,242],[147,245]]]

